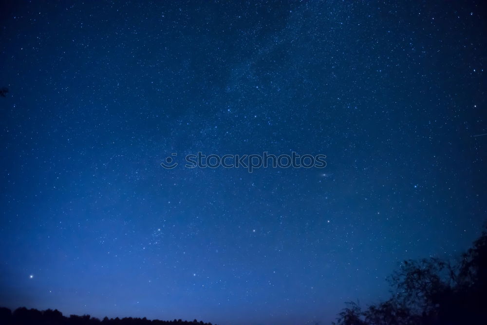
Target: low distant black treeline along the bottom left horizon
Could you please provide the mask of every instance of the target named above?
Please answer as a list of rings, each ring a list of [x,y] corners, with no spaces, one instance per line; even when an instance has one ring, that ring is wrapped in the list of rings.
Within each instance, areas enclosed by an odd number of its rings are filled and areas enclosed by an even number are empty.
[[[192,322],[173,320],[159,321],[148,320],[147,318],[125,317],[122,319],[105,317],[103,320],[91,317],[90,315],[70,315],[63,316],[62,313],[55,309],[37,310],[20,307],[13,312],[9,308],[0,307],[0,324],[1,325],[212,325],[211,323]]]

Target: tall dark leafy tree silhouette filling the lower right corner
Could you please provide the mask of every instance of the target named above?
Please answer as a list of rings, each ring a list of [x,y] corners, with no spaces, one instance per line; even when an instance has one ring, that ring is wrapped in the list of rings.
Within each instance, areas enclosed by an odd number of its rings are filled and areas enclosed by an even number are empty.
[[[487,325],[487,225],[451,263],[404,261],[389,278],[391,298],[362,309],[348,302],[337,325]]]

